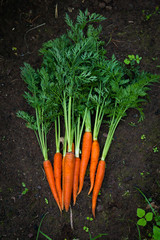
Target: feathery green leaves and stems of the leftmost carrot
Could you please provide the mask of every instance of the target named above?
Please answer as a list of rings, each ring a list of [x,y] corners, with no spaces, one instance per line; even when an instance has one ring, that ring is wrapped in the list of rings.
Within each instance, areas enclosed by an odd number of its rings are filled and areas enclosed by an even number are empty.
[[[51,101],[49,97],[51,94],[49,75],[43,67],[36,72],[29,64],[25,63],[21,70],[22,79],[27,83],[29,90],[29,92],[25,92],[24,97],[28,104],[35,109],[35,113],[30,115],[27,112],[19,111],[17,117],[24,119],[27,122],[26,126],[34,130],[43,157],[48,160],[47,133],[58,114],[58,104]]]

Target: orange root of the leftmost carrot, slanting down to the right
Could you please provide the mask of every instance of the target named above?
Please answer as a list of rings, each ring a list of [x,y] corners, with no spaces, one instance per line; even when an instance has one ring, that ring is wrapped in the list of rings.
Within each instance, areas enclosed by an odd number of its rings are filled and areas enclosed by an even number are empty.
[[[53,167],[51,165],[51,162],[49,160],[43,161],[43,167],[44,167],[44,171],[46,173],[46,177],[47,177],[50,189],[52,191],[53,197],[56,203],[58,204],[60,211],[62,211],[59,203],[59,199],[58,199],[57,189],[56,189],[55,180],[54,180]]]

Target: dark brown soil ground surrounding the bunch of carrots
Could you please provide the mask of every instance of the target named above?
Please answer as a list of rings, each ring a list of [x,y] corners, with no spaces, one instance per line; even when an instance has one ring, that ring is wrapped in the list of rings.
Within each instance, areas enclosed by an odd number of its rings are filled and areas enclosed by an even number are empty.
[[[42,44],[66,31],[65,14],[74,20],[79,10],[88,8],[107,19],[102,22],[102,39],[107,56],[115,54],[124,61],[128,54],[142,57],[141,69],[159,73],[160,10],[155,12],[157,0],[24,0],[0,1],[0,86],[1,86],[1,150],[0,150],[0,239],[36,239],[37,229],[44,214],[41,231],[54,240],[89,239],[107,233],[101,239],[136,240],[138,207],[146,210],[147,203],[139,187],[157,208],[160,207],[160,84],[149,92],[149,101],[143,103],[145,119],[130,109],[120,122],[108,157],[105,179],[98,199],[96,218],[92,217],[91,198],[87,196],[89,176],[85,177],[83,191],[71,213],[60,214],[52,197],[42,168],[43,157],[36,137],[25,123],[16,117],[18,110],[30,107],[23,98],[26,85],[20,76],[24,62],[34,68],[41,64],[38,50]],[[58,4],[58,18],[55,6]],[[160,7],[160,6],[159,6]],[[147,16],[151,14],[147,20]],[[100,131],[103,146],[107,127]],[[141,136],[145,135],[145,139]],[[49,156],[55,152],[54,132],[49,138]],[[155,152],[153,149],[159,151]],[[23,192],[25,183],[28,191]],[[24,185],[24,184],[23,184]],[[22,194],[22,192],[24,194]],[[47,201],[48,200],[48,201]],[[149,211],[149,210],[148,210]],[[142,239],[150,239],[152,223],[140,228]],[[40,234],[39,240],[45,239]]]

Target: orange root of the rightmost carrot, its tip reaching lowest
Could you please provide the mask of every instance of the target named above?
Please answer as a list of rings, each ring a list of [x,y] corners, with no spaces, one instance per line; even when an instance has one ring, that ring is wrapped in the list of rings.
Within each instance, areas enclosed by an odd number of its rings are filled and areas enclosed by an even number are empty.
[[[97,203],[97,197],[98,193],[101,189],[103,178],[105,174],[105,161],[100,160],[97,168],[96,173],[96,180],[93,188],[93,195],[92,195],[92,214],[95,218],[95,209],[96,209],[96,203]]]

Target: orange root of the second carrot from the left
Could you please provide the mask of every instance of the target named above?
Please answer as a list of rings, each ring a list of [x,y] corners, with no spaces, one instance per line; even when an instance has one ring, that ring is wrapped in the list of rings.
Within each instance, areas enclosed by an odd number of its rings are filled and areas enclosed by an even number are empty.
[[[54,155],[54,177],[55,184],[58,193],[59,203],[62,206],[62,187],[61,187],[61,175],[62,175],[62,154],[60,152]]]

